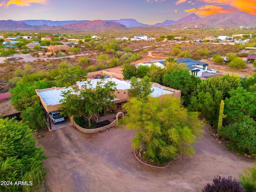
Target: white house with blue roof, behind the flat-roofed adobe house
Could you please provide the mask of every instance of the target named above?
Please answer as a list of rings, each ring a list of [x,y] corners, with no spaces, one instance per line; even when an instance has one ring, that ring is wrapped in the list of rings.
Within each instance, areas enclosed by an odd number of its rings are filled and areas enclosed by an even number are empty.
[[[196,61],[194,59],[191,58],[182,58],[182,59],[176,59],[177,60],[177,64],[180,63],[184,63],[187,67],[188,70],[191,74],[194,74],[194,76],[196,77],[202,77],[202,72],[205,72],[207,70],[207,66],[208,64],[204,63],[204,62],[200,62],[200,61]],[[148,61],[148,64],[162,64],[164,65],[164,61],[165,59],[162,60],[154,60],[154,61]]]

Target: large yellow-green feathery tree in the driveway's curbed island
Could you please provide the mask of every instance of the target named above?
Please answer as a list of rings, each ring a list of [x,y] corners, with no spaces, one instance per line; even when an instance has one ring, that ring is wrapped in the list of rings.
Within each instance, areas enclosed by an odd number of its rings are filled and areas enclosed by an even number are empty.
[[[137,130],[132,145],[143,158],[162,164],[180,155],[193,154],[192,144],[200,136],[202,124],[198,113],[188,112],[178,98],[132,97],[124,105],[127,115],[124,124]]]

